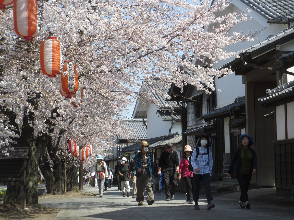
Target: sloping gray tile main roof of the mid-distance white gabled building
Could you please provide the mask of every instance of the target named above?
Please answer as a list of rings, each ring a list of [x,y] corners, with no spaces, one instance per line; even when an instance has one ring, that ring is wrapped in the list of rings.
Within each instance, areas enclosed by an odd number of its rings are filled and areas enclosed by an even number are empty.
[[[144,86],[146,87],[146,89],[148,89],[148,91],[151,92],[152,96],[156,100],[161,102],[161,106],[158,106],[158,108],[170,108],[170,106],[178,107],[178,104],[176,101],[167,101],[161,95],[154,92],[155,88],[159,88],[159,89],[161,89],[161,91],[168,94],[168,90],[170,88],[169,85],[163,84],[162,82],[159,81],[159,79],[153,79],[153,82],[151,84],[144,84]]]

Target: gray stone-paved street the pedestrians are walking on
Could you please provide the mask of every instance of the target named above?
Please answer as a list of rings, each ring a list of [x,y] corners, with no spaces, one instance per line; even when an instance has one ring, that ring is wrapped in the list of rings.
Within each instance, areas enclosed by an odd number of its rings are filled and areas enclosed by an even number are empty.
[[[131,189],[132,190],[132,189]],[[145,201],[143,206],[138,206],[130,197],[122,197],[117,187],[112,187],[99,198],[99,190],[95,187],[84,186],[82,191],[92,192],[98,197],[71,198],[71,199],[39,199],[39,204],[60,208],[61,211],[55,219],[294,219],[294,208],[291,200],[275,197],[275,189],[249,190],[251,209],[238,207],[239,192],[223,192],[213,195],[215,208],[206,210],[206,197],[200,195],[200,210],[194,210],[193,204],[186,203],[184,193],[176,193],[171,202],[166,202],[166,196],[154,195],[155,203],[148,206]],[[146,195],[146,191],[145,191]]]

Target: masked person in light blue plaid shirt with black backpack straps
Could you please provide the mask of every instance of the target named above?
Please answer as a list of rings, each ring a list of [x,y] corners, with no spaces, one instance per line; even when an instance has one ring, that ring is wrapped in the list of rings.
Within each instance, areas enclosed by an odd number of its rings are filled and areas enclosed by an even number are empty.
[[[198,149],[196,149],[198,148]],[[208,149],[209,148],[209,149]],[[207,210],[214,208],[214,203],[211,196],[210,189],[210,179],[211,179],[211,170],[212,170],[212,145],[210,137],[207,134],[203,134],[196,142],[192,156],[191,156],[191,165],[193,167],[193,181],[194,181],[194,195],[193,200],[195,202],[194,209],[200,209],[198,205],[199,200],[199,189],[200,182],[203,180],[206,199],[207,199]]]

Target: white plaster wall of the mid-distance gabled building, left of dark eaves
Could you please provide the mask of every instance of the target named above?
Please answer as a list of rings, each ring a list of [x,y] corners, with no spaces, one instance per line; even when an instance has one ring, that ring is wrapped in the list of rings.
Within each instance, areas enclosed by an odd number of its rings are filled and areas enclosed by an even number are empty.
[[[156,138],[169,134],[171,121],[163,121],[162,118],[156,114],[159,110],[156,106],[148,103],[147,106],[147,139]],[[171,133],[182,133],[181,122],[175,122]]]

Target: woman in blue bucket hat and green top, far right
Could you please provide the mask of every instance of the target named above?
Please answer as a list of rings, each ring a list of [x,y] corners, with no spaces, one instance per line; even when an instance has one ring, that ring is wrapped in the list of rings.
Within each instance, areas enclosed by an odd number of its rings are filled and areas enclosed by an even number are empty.
[[[254,141],[248,134],[242,134],[239,137],[239,141],[242,145],[238,147],[234,154],[228,170],[227,177],[231,179],[231,174],[236,163],[235,173],[240,185],[241,196],[239,200],[239,207],[244,209],[250,209],[250,202],[248,199],[248,188],[251,181],[252,174],[257,170],[257,157],[256,152],[250,148]]]

